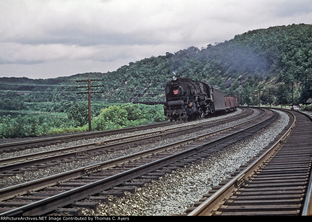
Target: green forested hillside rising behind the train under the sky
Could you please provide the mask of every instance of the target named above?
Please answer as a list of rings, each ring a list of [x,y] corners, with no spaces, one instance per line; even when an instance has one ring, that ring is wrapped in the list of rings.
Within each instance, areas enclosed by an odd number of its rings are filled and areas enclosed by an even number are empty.
[[[86,101],[87,95],[76,95],[76,88],[94,81],[93,105],[132,101],[165,101],[164,86],[175,72],[194,80],[207,81],[241,105],[302,103],[311,97],[312,26],[306,24],[257,29],[236,35],[222,43],[198,49],[189,47],[174,54],[130,62],[108,73],[84,73],[55,79],[0,78],[0,109],[45,110],[66,112],[72,101]],[[5,73],[3,73],[5,75]],[[38,103],[41,102],[41,103]],[[67,105],[66,105],[67,104]],[[42,107],[39,107],[42,106]]]

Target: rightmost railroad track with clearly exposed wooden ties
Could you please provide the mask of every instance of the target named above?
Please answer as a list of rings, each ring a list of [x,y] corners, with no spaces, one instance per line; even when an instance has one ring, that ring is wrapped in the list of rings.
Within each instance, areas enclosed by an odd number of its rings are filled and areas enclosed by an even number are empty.
[[[274,144],[213,187],[188,215],[312,214],[311,117],[287,112],[293,121]]]

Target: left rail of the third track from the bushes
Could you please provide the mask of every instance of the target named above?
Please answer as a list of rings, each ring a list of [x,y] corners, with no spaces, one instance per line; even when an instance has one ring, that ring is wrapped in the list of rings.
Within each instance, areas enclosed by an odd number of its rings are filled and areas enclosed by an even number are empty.
[[[260,118],[260,117],[262,117],[264,115],[265,115],[265,113],[261,114],[261,116],[258,116],[258,117],[254,118],[252,120],[256,120],[256,119],[258,119],[258,118]],[[270,118],[272,118],[272,116]],[[267,120],[268,119],[266,119],[266,121]],[[51,176],[48,176],[48,177],[45,177],[45,178],[41,178],[41,179],[25,182],[25,183],[18,184],[18,185],[13,185],[11,187],[2,188],[2,189],[0,189],[0,197],[1,197],[0,200],[6,200],[6,199],[9,199],[9,198],[12,198],[12,197],[14,197],[14,195],[17,195],[19,193],[25,192],[27,190],[40,190],[40,189],[42,189],[42,188],[44,188],[46,186],[56,185],[56,183],[61,181],[61,180],[63,181],[63,180],[73,179],[73,178],[79,177],[81,175],[84,175],[85,173],[91,173],[91,172],[95,172],[95,171],[98,171],[98,170],[107,169],[109,167],[113,167],[113,166],[116,166],[118,164],[128,162],[129,160],[137,159],[137,158],[140,158],[140,157],[145,157],[145,156],[148,156],[148,155],[151,155],[151,154],[154,154],[154,153],[161,152],[162,150],[168,150],[168,149],[171,149],[171,148],[176,147],[176,146],[180,146],[180,145],[187,144],[187,143],[190,143],[190,142],[195,141],[195,140],[206,138],[207,136],[211,136],[211,134],[217,134],[217,133],[221,133],[221,132],[224,132],[224,131],[228,131],[230,129],[238,127],[239,125],[246,124],[247,122],[250,122],[250,121],[251,120],[244,121],[242,123],[236,124],[235,126],[230,126],[230,127],[227,127],[227,128],[223,128],[223,129],[220,129],[220,130],[212,132],[212,133],[203,134],[201,136],[192,137],[192,138],[189,138],[189,139],[186,139],[186,140],[182,140],[182,141],[174,142],[174,143],[171,143],[171,144],[155,147],[155,148],[152,148],[152,149],[149,149],[149,150],[144,150],[144,151],[137,152],[137,153],[134,153],[134,154],[129,154],[129,155],[126,155],[126,156],[123,156],[123,157],[115,158],[115,159],[112,159],[112,160],[107,160],[107,161],[104,161],[104,162],[101,162],[101,163],[96,163],[96,164],[89,165],[89,166],[86,166],[86,167],[81,167],[81,168],[78,168],[78,169],[75,169],[75,170],[66,171],[64,173],[51,175]],[[215,144],[219,143],[220,141],[224,141],[224,140],[230,139],[230,138],[232,138],[234,136],[237,136],[238,134],[240,134],[240,133],[242,133],[242,132],[244,132],[244,131],[246,131],[248,129],[251,129],[252,127],[258,126],[259,124],[262,124],[262,122],[256,123],[256,124],[254,124],[252,126],[249,126],[246,129],[243,129],[243,130],[240,130],[240,131],[236,131],[236,132],[234,132],[234,133],[232,133],[230,135],[223,136],[223,137],[221,137],[219,139],[211,141],[211,142],[205,144],[205,146],[208,146],[208,145],[212,146],[212,145],[215,145]],[[197,147],[197,149],[199,149],[199,148],[202,148],[202,146]]]

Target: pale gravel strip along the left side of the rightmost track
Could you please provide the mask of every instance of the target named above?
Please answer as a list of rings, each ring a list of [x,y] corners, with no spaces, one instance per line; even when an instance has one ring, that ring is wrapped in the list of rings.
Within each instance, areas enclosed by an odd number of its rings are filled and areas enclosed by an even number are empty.
[[[85,215],[176,215],[185,213],[188,207],[209,192],[213,185],[229,177],[240,165],[246,163],[285,128],[287,114],[280,114],[277,121],[246,138],[218,151],[198,164],[179,168],[166,174],[162,180],[153,180],[136,193],[124,198],[110,198],[109,204],[100,204],[100,210],[84,210]]]

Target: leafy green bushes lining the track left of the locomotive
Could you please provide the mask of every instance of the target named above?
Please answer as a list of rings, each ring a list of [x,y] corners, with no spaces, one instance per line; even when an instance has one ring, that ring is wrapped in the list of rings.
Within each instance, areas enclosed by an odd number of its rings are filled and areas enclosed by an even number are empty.
[[[21,116],[11,118],[10,115],[0,118],[0,138],[35,137],[60,133],[88,131],[88,111],[83,103],[71,106],[68,116],[71,118],[52,117],[46,123],[42,116]],[[147,123],[163,121],[161,105],[147,106],[142,104],[121,104],[104,108],[100,115],[92,119],[92,130],[110,130]]]

